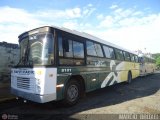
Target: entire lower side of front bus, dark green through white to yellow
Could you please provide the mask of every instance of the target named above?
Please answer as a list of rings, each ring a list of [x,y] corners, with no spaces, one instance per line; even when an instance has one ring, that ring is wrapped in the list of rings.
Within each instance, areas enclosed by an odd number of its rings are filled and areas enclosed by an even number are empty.
[[[93,57],[88,61],[91,64],[87,66],[58,68],[57,85],[63,84],[63,87],[57,88],[57,100],[64,98],[66,83],[72,75],[82,76],[86,92],[127,81],[129,70],[133,79],[139,76],[139,63]]]

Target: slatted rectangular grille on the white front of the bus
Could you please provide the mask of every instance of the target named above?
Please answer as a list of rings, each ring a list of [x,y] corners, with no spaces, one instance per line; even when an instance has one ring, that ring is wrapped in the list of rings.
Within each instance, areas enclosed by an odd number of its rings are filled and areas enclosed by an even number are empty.
[[[30,90],[30,78],[17,77],[17,88]]]

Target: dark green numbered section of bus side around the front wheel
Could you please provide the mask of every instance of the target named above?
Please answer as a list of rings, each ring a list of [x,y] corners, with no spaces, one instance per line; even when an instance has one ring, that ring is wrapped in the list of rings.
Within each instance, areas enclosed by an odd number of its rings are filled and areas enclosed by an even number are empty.
[[[84,80],[85,92],[93,91],[100,88],[100,78],[106,77],[107,72],[103,71],[103,75],[99,72],[100,67],[86,67],[86,66],[63,66],[58,67],[57,74],[57,85],[62,85],[62,87],[57,87],[57,100],[64,98],[65,86],[70,80],[71,76],[79,75]],[[104,68],[103,68],[104,69]]]

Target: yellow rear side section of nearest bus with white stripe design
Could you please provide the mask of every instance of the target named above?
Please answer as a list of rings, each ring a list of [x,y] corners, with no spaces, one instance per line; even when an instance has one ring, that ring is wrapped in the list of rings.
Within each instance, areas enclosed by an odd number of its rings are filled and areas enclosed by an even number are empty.
[[[139,63],[111,60],[110,69],[111,71],[103,80],[101,88],[127,81],[129,71],[131,71],[133,79],[139,76]]]

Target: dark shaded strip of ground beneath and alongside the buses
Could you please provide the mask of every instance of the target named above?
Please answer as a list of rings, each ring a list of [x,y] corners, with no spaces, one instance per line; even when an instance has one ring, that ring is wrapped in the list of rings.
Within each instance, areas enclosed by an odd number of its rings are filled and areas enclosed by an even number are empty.
[[[75,114],[91,109],[121,104],[125,101],[135,100],[155,94],[160,90],[160,73],[157,72],[145,77],[134,79],[131,84],[120,83],[104,89],[87,93],[78,104],[65,108],[60,102],[38,104],[34,102],[23,103],[23,100],[10,100],[0,103],[0,115],[25,120],[50,119],[79,119],[72,118]],[[96,113],[93,113],[96,114]],[[106,113],[107,114],[107,113]],[[0,116],[1,117],[1,116]]]

